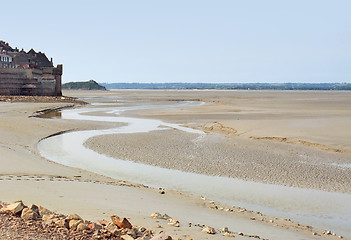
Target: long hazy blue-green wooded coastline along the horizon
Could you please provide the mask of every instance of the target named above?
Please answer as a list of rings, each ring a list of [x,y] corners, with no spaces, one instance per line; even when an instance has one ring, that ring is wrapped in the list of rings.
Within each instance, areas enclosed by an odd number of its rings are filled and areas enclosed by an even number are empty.
[[[351,83],[100,83],[107,89],[351,90]]]

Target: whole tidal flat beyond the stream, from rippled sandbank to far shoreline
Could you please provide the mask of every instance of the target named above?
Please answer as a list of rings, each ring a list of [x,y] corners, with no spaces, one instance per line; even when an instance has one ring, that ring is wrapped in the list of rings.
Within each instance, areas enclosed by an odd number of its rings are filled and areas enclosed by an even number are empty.
[[[351,193],[351,93],[113,91],[130,101],[198,101],[127,112],[205,131],[101,135],[85,146],[112,157],[200,174]],[[117,97],[117,98],[118,98]],[[138,149],[138,151],[133,151]],[[179,151],[181,149],[181,151]]]

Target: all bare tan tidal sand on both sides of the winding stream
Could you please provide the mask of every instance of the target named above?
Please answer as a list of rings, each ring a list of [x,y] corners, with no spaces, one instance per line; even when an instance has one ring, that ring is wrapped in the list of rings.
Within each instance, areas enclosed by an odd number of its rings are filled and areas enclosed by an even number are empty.
[[[130,90],[64,94],[93,104],[101,103],[102,99],[121,101],[124,106],[153,103],[159,107],[121,115],[161,119],[206,132],[199,137],[166,128],[149,133],[96,136],[85,145],[98,152],[164,168],[350,193],[349,92]],[[199,104],[165,107],[187,101]],[[68,103],[0,103],[0,106],[2,201],[22,199],[65,214],[78,212],[90,220],[108,219],[112,214],[126,216],[133,224],[155,232],[165,231],[180,239],[228,238],[221,233],[206,234],[199,227],[202,225],[213,226],[217,231],[228,227],[237,239],[255,236],[336,239],[339,235],[327,235],[323,233],[325,229],[200,196],[167,189],[166,194],[160,194],[158,189],[48,161],[37,149],[38,142],[45,137],[63,131],[107,129],[123,124],[30,117],[39,110],[71,106]],[[99,108],[90,114],[109,115]],[[151,219],[153,212],[169,214],[180,221],[180,227]],[[345,236],[349,237],[347,233]]]

